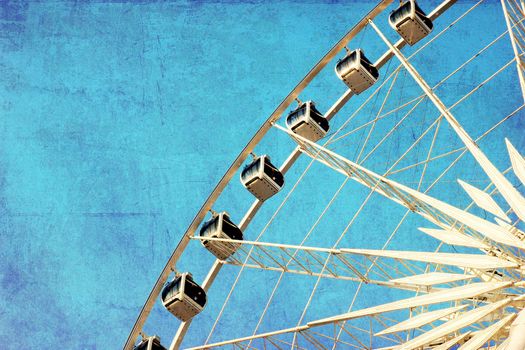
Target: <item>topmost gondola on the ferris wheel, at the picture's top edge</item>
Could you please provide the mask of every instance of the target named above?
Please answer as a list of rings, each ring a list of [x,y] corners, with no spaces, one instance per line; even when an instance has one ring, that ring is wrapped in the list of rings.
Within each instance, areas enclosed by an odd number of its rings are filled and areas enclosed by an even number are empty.
[[[388,22],[409,45],[426,37],[434,27],[415,0],[409,0],[392,11]]]

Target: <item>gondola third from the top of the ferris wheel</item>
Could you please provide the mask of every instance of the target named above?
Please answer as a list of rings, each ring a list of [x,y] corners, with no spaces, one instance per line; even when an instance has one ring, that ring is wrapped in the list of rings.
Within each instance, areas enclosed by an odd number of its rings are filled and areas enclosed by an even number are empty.
[[[312,142],[322,139],[328,132],[328,120],[315,108],[313,101],[301,103],[286,118],[286,126],[292,132]]]

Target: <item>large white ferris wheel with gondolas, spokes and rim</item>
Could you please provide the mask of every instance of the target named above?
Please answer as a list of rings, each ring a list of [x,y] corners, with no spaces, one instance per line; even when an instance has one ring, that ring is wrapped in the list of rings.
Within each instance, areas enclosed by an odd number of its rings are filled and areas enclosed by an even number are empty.
[[[487,28],[483,0],[392,2],[240,152],[126,350],[525,348],[525,4],[501,0]],[[484,35],[458,45],[458,28]],[[330,101],[314,79],[342,93]],[[170,345],[153,335],[156,307]]]

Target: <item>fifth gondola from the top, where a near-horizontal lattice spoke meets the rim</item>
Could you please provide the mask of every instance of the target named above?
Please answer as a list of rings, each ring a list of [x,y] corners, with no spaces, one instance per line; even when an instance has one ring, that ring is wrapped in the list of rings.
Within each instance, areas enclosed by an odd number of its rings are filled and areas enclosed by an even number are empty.
[[[242,231],[226,212],[214,213],[200,230],[201,237],[242,240]],[[240,247],[240,243],[201,240],[202,245],[220,260],[226,260]]]

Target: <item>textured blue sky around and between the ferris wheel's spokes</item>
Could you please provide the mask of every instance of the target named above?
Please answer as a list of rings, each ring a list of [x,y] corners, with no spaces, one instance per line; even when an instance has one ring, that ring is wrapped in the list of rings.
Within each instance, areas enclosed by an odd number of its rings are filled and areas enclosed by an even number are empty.
[[[436,4],[421,1],[427,10]],[[437,22],[434,34],[473,4],[460,2]],[[0,335],[9,339],[3,346],[120,348],[172,249],[229,164],[288,91],[372,7],[365,1],[2,1]],[[397,39],[386,16],[378,18],[378,25],[391,40]],[[499,2],[486,1],[454,30],[413,60],[431,84],[505,30]],[[372,60],[385,50],[371,28],[350,47],[363,47]],[[511,58],[505,37],[437,93],[450,105]],[[397,64],[392,60],[382,77]],[[301,95],[317,101],[322,111],[345,90],[332,67]],[[399,81],[397,101],[421,93],[408,75],[400,73]],[[369,93],[353,98],[332,130]],[[458,107],[456,116],[477,137],[522,103],[512,65]],[[375,113],[374,108],[365,110],[363,118]],[[417,135],[435,117],[430,103],[422,105],[418,119],[404,129],[406,135]],[[500,169],[509,166],[504,136],[524,153],[523,125],[519,114],[480,143]],[[378,124],[377,135],[391,126]],[[368,166],[384,171],[409,144],[406,135],[386,145]],[[440,151],[460,146],[446,126],[440,135]],[[333,149],[352,158],[363,137],[357,134]],[[274,130],[256,152],[268,153],[280,164],[293,147]],[[423,149],[414,159],[423,157]],[[298,162],[287,179],[288,189],[307,164],[306,159]],[[429,167],[429,174],[437,174],[442,164]],[[318,164],[309,174],[265,240],[297,244],[344,180]],[[408,184],[411,176],[395,179]],[[488,183],[466,159],[447,177],[449,184],[431,194],[468,204],[453,183],[457,177],[480,187]],[[331,246],[366,194],[357,185],[346,191],[312,245]],[[284,192],[279,196],[265,205],[246,237],[260,232]],[[240,220],[251,201],[235,176],[216,210]],[[395,226],[402,213],[381,201],[372,204],[344,244],[380,247],[388,235],[384,228]],[[426,238],[410,239],[413,234],[407,228],[393,244],[436,247]],[[202,281],[212,261],[192,243],[180,267]],[[237,271],[223,270],[188,344],[206,337]],[[251,334],[276,276],[247,272],[213,339]],[[294,325],[314,282],[287,277],[280,288],[284,301],[271,308],[264,330]],[[348,299],[355,287],[323,283],[308,319],[346,309],[348,302],[341,298]],[[290,293],[295,297],[287,297]],[[396,297],[389,291],[370,295],[365,304]],[[160,334],[169,343],[178,321],[157,305],[147,326],[147,333]]]

